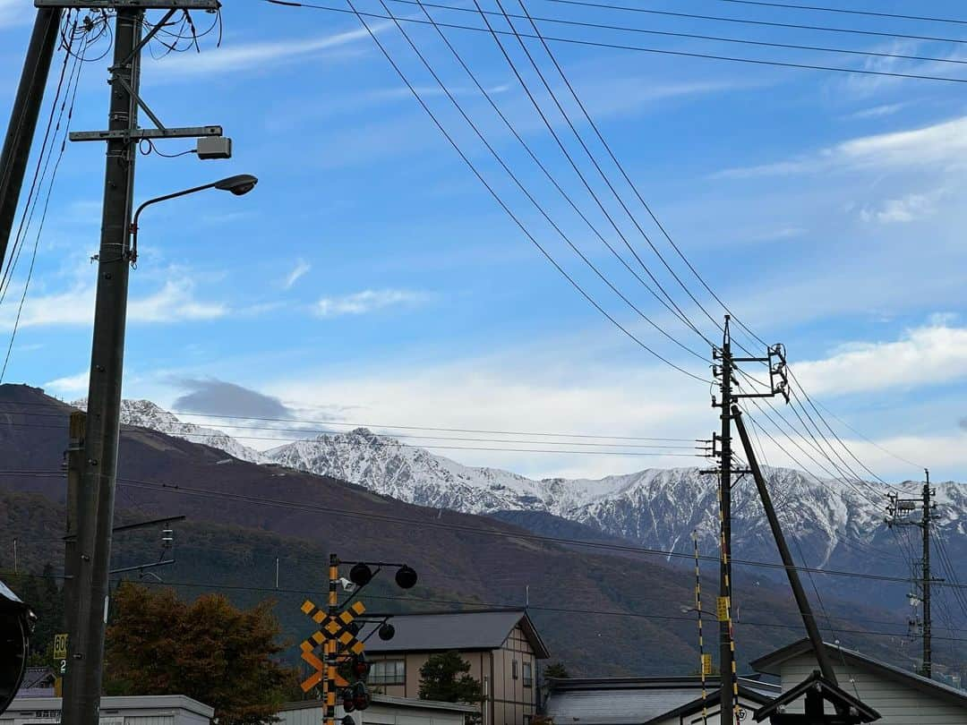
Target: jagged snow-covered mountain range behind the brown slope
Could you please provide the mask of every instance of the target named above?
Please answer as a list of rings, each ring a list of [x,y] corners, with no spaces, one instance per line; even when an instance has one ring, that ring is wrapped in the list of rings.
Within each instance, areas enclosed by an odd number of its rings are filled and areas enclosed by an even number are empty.
[[[718,547],[717,481],[697,468],[648,469],[600,479],[534,479],[493,468],[464,466],[426,449],[366,428],[323,434],[276,449],[249,449],[220,431],[178,420],[146,400],[125,401],[125,422],[220,448],[238,458],[275,463],[362,485],[372,491],[426,507],[465,513],[500,514],[533,528],[534,517],[553,526],[566,519],[643,546],[689,553],[692,532],[703,551]],[[797,558],[808,565],[908,575],[919,551],[910,530],[891,532],[884,523],[885,487],[865,482],[821,479],[806,473],[767,468],[770,490],[783,529]],[[900,487],[919,497],[921,484]],[[936,530],[949,544],[949,558],[967,561],[967,486],[936,483]],[[737,558],[777,561],[752,481],[734,487],[733,551]],[[558,517],[558,518],[554,518]],[[553,533],[548,529],[543,533]],[[912,542],[912,543],[911,543]],[[967,572],[960,571],[967,578]],[[897,590],[897,598],[906,592]],[[858,590],[857,595],[863,595]]]

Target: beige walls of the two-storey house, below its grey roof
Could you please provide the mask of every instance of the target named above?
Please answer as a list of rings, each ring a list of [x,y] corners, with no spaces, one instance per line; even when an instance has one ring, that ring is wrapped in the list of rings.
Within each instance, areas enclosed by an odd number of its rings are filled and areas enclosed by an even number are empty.
[[[404,660],[405,682],[403,684],[377,684],[377,691],[394,697],[420,696],[420,668],[426,663],[429,652],[374,652],[367,654],[370,662],[381,660]],[[515,626],[498,650],[487,652],[460,652],[470,663],[470,676],[482,683],[486,702],[481,707],[483,725],[528,725],[536,712],[537,660],[534,649],[523,630]],[[516,678],[514,665],[516,661]],[[524,664],[531,669],[531,686],[524,686]]]

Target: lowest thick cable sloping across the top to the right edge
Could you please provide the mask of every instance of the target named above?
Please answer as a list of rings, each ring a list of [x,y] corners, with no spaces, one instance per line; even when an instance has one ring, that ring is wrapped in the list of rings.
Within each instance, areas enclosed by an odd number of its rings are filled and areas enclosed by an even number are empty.
[[[321,10],[321,11],[327,11],[330,13],[353,13],[353,11],[347,11],[344,8],[333,8],[326,5],[316,5],[311,3],[288,2],[288,0],[261,0],[261,1],[265,3],[270,3],[272,5],[282,6],[282,7],[307,8],[309,10]],[[548,0],[548,1],[565,2],[566,0]],[[567,0],[567,1],[571,2],[571,0]],[[384,20],[399,20],[401,22],[414,22],[421,25],[439,25],[440,27],[444,27],[444,28],[472,30],[478,33],[487,32],[485,28],[479,28],[472,25],[460,25],[457,23],[439,22],[436,20],[434,20],[433,22],[430,22],[428,20],[420,20],[414,17],[400,17],[392,14],[366,13],[363,11],[357,11],[357,13],[361,17],[372,17],[372,18],[379,18]],[[496,30],[495,32],[500,35],[513,35],[513,33],[511,33],[510,31]],[[538,40],[542,38],[545,41],[551,41],[553,43],[571,43],[571,44],[577,44],[577,45],[587,45],[590,47],[610,48],[614,50],[631,50],[631,51],[641,52],[641,53],[671,55],[671,56],[677,56],[677,57],[683,57],[683,58],[702,58],[705,60],[728,61],[732,63],[746,63],[746,64],[751,64],[756,66],[772,66],[776,68],[792,68],[792,69],[806,70],[806,71],[827,71],[830,73],[859,73],[860,75],[877,75],[877,76],[893,77],[893,78],[933,80],[933,81],[940,81],[940,82],[947,82],[947,83],[967,83],[967,78],[952,78],[944,75],[928,75],[925,73],[898,73],[893,71],[873,71],[870,69],[842,68],[839,66],[823,66],[823,65],[810,64],[810,63],[792,63],[788,61],[765,60],[765,59],[756,59],[756,58],[739,58],[735,56],[717,55],[713,53],[689,52],[685,50],[669,50],[665,48],[646,47],[644,45],[628,45],[628,44],[622,44],[622,43],[601,43],[596,41],[578,40],[575,38],[558,38],[555,36],[548,36],[548,35],[541,35],[539,38],[539,36],[532,35],[529,33],[520,33],[519,35],[522,38],[533,38]]]

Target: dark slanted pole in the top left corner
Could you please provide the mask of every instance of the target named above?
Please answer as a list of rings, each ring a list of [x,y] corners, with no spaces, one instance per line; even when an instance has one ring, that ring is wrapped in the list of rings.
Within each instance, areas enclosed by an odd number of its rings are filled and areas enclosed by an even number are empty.
[[[37,130],[37,117],[44,102],[44,86],[50,72],[50,60],[57,47],[60,8],[40,8],[34,20],[34,32],[27,46],[27,56],[16,89],[14,109],[0,155],[0,264],[7,257],[10,232],[14,228],[16,206],[23,186],[23,175],[30,159],[30,147]]]

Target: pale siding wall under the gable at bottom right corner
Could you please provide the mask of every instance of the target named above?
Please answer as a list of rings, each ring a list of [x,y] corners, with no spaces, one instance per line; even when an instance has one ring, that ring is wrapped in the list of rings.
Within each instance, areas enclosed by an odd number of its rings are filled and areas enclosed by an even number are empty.
[[[835,654],[835,652],[834,652]],[[815,657],[802,655],[784,662],[780,670],[782,691],[792,689],[806,680],[817,669]],[[964,725],[967,708],[939,700],[919,689],[887,680],[865,669],[834,661],[839,686],[857,695],[869,707],[877,710],[882,719],[878,725]],[[850,679],[853,681],[850,681]],[[855,689],[854,689],[855,687]],[[802,703],[797,703],[802,712]]]

